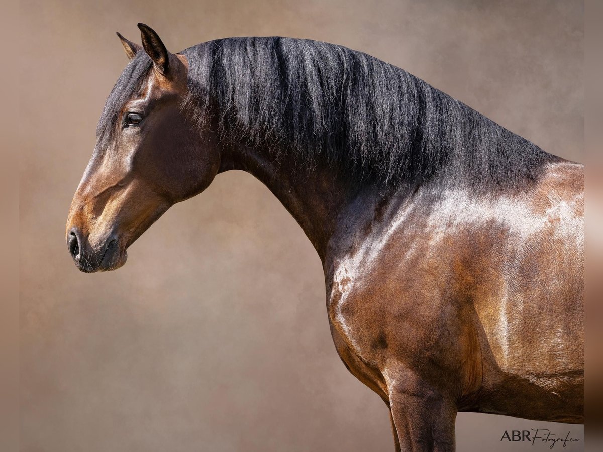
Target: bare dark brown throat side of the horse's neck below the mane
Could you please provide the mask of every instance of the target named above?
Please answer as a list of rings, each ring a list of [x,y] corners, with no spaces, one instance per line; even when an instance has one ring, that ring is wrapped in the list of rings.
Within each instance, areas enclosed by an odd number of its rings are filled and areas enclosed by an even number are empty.
[[[317,159],[309,168],[290,154],[278,158],[267,149],[236,145],[225,152],[219,172],[239,169],[256,177],[301,226],[325,262],[338,217],[358,196],[358,187],[341,171]]]

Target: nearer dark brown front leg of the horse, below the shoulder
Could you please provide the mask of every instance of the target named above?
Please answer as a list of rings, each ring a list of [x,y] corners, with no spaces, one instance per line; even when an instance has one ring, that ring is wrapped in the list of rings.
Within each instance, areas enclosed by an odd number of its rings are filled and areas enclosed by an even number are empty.
[[[408,372],[388,378],[396,450],[453,452],[456,404]]]

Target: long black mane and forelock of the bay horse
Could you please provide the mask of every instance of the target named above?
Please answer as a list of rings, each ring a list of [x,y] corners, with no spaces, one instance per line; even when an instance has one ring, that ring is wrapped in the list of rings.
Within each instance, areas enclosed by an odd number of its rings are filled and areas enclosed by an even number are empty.
[[[343,46],[235,37],[181,53],[186,105],[200,122],[217,119],[224,140],[293,152],[300,165],[323,156],[388,186],[438,177],[493,189],[529,184],[555,158],[403,69]],[[114,105],[148,71],[139,54]]]

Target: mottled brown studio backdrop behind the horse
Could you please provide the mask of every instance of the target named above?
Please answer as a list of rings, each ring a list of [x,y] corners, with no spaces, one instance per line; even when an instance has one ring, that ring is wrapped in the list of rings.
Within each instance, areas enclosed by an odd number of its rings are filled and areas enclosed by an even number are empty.
[[[136,22],[171,51],[226,36],[346,45],[403,67],[563,157],[583,159],[581,1],[21,2],[21,450],[390,451],[387,409],[330,339],[320,262],[250,175],[219,175],[85,275],[69,203]],[[504,430],[459,414],[459,451]],[[558,446],[559,447],[559,446]],[[538,444],[531,450],[548,450]]]

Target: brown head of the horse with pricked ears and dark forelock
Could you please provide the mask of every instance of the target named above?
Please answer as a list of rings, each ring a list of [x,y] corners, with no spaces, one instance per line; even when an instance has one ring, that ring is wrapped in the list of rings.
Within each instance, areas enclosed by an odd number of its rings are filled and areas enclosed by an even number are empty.
[[[183,107],[188,61],[138,24],[142,46],[119,39],[130,62],[98,123],[92,159],[66,227],[69,253],[84,272],[124,265],[127,248],[173,204],[203,191],[219,167],[216,142]]]

